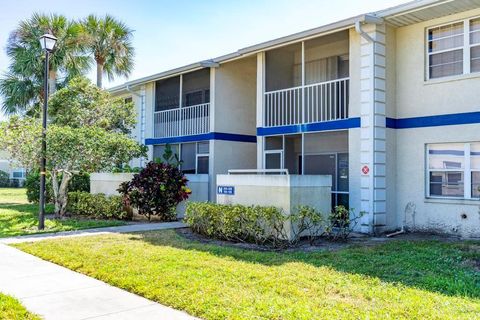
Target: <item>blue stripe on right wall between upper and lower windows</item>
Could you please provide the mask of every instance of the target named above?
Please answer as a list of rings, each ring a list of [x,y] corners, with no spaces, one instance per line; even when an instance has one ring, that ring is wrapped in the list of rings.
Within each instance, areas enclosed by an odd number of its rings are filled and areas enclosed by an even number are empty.
[[[480,123],[480,112],[441,114],[436,116],[393,119],[387,118],[387,128],[410,129]]]

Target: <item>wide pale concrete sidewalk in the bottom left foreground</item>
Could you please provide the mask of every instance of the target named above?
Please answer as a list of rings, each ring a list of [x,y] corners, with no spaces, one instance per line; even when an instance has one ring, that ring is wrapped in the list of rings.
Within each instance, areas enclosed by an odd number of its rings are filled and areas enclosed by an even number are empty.
[[[45,320],[196,319],[4,244],[0,292],[16,297]]]

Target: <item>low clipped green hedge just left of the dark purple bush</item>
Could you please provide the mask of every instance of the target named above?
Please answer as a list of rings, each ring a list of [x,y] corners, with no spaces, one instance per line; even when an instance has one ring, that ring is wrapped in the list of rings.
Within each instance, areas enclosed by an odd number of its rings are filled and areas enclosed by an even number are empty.
[[[69,192],[67,212],[94,219],[132,219],[132,211],[124,207],[121,196],[106,196],[103,193]]]

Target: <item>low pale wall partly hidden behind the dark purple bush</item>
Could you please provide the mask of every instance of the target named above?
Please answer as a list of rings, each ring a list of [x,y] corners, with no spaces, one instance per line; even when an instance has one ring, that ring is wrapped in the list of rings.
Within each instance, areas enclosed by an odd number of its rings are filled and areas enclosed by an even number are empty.
[[[118,187],[122,182],[132,180],[133,173],[92,173],[90,175],[90,193],[104,193],[117,195]],[[192,190],[187,201],[208,201],[209,180],[208,174],[187,174],[188,187]],[[185,201],[177,206],[177,217],[183,218],[185,214]]]

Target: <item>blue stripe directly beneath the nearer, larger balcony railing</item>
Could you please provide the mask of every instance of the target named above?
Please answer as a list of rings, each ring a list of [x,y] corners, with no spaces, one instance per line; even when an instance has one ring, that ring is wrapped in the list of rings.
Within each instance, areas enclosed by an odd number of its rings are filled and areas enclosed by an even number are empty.
[[[268,136],[276,134],[289,134],[289,133],[301,133],[301,132],[314,132],[314,131],[331,131],[342,130],[360,127],[360,118],[349,118],[334,121],[316,122],[308,124],[257,128],[257,136]]]

